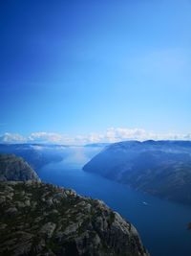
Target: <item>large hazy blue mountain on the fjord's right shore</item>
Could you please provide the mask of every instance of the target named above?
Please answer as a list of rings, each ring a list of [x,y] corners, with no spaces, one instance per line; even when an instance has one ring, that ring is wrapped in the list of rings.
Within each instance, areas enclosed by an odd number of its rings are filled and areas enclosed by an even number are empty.
[[[161,198],[191,204],[191,141],[115,143],[83,169]]]

